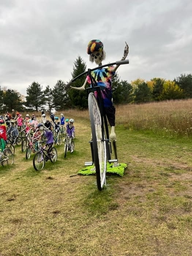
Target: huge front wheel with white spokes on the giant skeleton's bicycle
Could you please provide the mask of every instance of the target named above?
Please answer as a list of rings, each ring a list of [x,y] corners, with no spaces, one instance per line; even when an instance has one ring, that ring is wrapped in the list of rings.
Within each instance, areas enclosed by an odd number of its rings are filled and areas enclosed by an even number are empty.
[[[93,148],[94,148],[94,164],[95,171],[97,176],[97,188],[102,190],[103,185],[106,184],[106,165],[107,165],[107,155],[106,155],[106,141],[105,135],[102,138],[102,120],[101,113],[97,103],[97,99],[95,98],[93,93],[89,94],[88,97],[88,105],[89,105],[89,115],[91,122],[91,133],[93,140]]]

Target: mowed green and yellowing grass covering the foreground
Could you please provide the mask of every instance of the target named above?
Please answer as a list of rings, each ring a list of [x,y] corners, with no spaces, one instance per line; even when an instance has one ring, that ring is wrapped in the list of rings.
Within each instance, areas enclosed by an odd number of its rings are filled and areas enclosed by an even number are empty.
[[[16,148],[0,167],[0,255],[191,255],[192,143],[116,127],[124,177],[73,176],[91,161],[88,118],[74,116],[75,151],[35,172]]]

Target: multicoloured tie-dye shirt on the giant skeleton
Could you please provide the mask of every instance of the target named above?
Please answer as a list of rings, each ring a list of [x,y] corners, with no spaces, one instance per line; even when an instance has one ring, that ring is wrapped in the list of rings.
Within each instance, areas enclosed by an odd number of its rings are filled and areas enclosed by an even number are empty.
[[[112,103],[112,76],[115,74],[113,72],[114,67],[107,67],[96,69],[91,71],[91,75],[97,82],[98,86],[101,86],[101,95],[103,98],[104,107],[110,107],[113,105]],[[87,76],[87,82],[90,84],[91,79]],[[105,89],[103,90],[103,88]],[[97,92],[95,92],[95,97],[97,97]]]

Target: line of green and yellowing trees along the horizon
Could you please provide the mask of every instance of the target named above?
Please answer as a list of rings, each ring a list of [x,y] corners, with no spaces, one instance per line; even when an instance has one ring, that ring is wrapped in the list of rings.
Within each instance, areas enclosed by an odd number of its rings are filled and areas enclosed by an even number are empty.
[[[74,61],[72,78],[86,71],[86,63],[80,56]],[[73,83],[74,87],[82,86],[86,76]],[[64,110],[69,108],[86,109],[88,97],[86,91],[77,91],[67,88],[67,83],[58,80],[53,88],[49,85],[45,90],[41,84],[33,82],[27,87],[24,97],[16,90],[1,88],[0,86],[0,112],[24,110]],[[121,80],[118,73],[112,80],[114,104],[144,103],[150,101],[164,101],[169,99],[192,98],[192,74],[181,74],[174,80],[152,78],[150,81],[136,79],[130,83]]]

